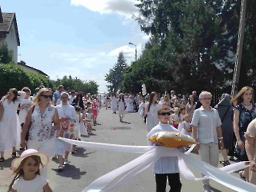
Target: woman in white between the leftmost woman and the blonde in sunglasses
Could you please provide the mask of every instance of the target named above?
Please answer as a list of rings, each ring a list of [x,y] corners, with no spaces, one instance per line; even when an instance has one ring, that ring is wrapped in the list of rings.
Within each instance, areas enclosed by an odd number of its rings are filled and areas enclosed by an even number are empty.
[[[22,100],[20,107],[19,107],[19,113],[18,113],[18,119],[19,123],[23,127],[25,123],[25,118],[28,114],[29,108],[32,106],[32,96],[30,96],[31,91],[29,88],[22,88],[22,91],[26,93],[25,98]],[[25,141],[28,141],[28,133],[26,134]],[[24,150],[23,148],[20,148],[20,150]]]

